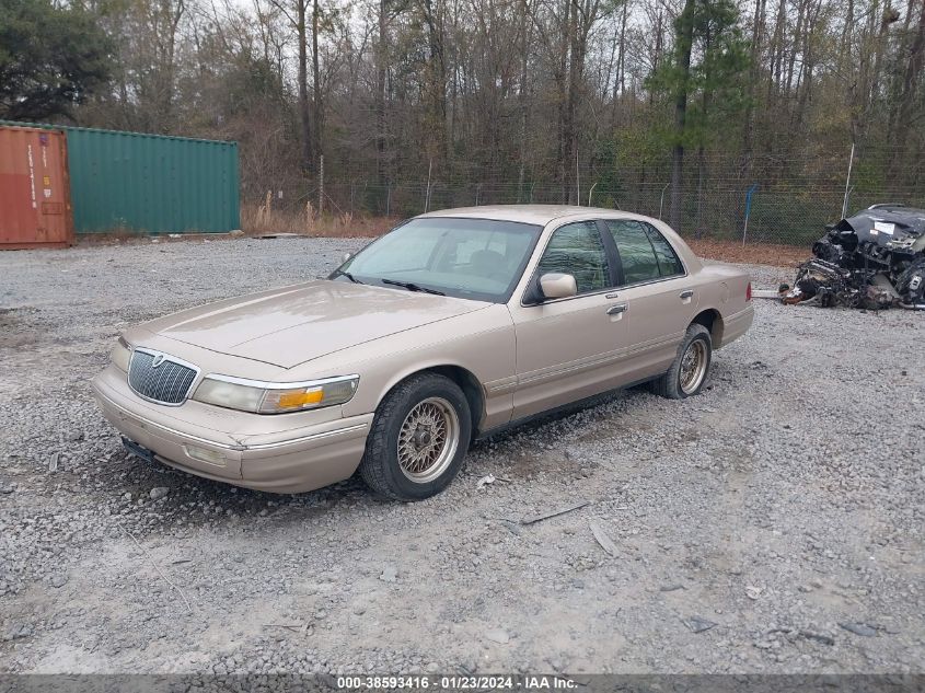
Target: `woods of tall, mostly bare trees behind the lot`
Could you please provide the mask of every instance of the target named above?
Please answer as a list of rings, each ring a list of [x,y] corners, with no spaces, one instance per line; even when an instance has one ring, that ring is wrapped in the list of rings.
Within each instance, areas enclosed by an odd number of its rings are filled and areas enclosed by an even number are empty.
[[[590,203],[741,238],[751,188],[750,238],[801,243],[846,192],[925,203],[923,62],[925,0],[0,0],[0,118],[236,140],[248,219]]]

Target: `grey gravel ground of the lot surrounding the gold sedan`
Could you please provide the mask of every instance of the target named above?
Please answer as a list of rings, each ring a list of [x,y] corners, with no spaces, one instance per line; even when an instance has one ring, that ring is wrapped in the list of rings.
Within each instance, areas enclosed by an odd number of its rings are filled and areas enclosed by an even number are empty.
[[[702,396],[497,436],[415,505],[126,457],[88,386],[124,326],[362,242],[0,254],[0,671],[923,670],[922,314],[756,301]]]

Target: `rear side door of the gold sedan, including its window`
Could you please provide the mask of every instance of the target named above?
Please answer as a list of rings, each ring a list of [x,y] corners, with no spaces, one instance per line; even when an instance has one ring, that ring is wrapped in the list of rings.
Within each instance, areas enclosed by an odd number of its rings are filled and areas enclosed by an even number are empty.
[[[628,363],[637,379],[668,370],[697,309],[697,294],[678,253],[652,224],[602,222],[617,255],[615,293],[625,308]]]

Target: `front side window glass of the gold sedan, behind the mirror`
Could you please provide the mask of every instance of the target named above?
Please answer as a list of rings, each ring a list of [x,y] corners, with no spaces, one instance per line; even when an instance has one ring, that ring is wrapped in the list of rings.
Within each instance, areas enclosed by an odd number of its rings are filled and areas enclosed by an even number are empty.
[[[610,286],[606,252],[593,221],[569,223],[553,233],[536,273],[553,272],[573,275],[579,293]]]

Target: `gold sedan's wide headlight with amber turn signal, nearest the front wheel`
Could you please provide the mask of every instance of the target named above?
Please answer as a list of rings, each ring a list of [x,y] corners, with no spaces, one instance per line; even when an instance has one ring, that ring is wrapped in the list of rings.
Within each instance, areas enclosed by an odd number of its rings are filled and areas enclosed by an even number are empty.
[[[255,414],[284,414],[345,404],[354,397],[359,376],[309,382],[270,383],[230,376],[206,376],[193,399]]]

